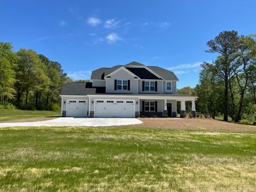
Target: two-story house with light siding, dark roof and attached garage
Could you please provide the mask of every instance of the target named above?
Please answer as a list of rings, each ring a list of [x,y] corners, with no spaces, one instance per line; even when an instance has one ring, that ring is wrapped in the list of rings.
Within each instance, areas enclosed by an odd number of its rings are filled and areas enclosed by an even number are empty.
[[[62,116],[73,117],[138,117],[186,116],[185,102],[195,99],[176,93],[179,79],[169,70],[145,66],[138,62],[93,70],[92,82],[68,83],[61,96]]]

